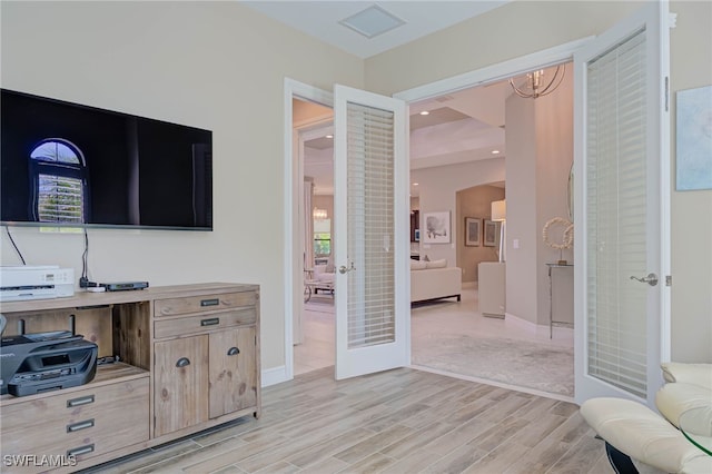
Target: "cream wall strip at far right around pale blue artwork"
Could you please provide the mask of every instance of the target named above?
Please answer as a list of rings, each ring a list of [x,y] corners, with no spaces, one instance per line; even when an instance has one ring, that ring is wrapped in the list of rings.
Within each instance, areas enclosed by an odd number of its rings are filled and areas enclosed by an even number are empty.
[[[674,191],[675,92],[712,85],[712,2],[672,2],[672,359],[712,362],[712,190]]]

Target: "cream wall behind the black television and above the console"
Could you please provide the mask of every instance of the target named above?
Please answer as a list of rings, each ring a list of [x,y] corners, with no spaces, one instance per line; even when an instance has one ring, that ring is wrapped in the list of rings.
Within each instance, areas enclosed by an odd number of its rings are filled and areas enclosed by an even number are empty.
[[[3,88],[212,130],[212,233],[89,230],[90,276],[261,286],[263,369],[285,364],[284,78],[363,87],[364,63],[238,2],[2,2]],[[12,228],[81,269],[81,235]],[[2,265],[19,263],[2,236]]]

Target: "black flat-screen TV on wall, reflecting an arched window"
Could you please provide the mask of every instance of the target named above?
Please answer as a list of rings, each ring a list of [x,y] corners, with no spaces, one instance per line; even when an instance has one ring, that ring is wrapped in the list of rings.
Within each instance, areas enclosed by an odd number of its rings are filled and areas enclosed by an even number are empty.
[[[2,225],[212,230],[212,132],[1,90]]]

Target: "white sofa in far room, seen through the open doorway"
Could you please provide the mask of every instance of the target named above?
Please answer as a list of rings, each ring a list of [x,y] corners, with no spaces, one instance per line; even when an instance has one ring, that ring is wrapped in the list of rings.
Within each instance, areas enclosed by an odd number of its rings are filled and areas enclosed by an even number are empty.
[[[441,298],[461,300],[463,270],[446,260],[411,260],[411,303]]]

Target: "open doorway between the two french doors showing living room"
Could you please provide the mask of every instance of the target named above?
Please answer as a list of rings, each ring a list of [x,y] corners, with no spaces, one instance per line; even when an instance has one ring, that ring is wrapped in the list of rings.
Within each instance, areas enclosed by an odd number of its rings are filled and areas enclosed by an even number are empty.
[[[545,76],[553,76],[555,69],[547,68]],[[515,83],[521,80],[514,78]],[[546,264],[561,259],[571,263],[573,249],[560,253],[541,238],[547,220],[570,218],[572,72],[548,97],[521,98],[505,79],[412,103],[412,116],[419,111],[439,117],[464,116],[412,132],[415,159],[411,172],[413,185],[417,182],[412,194],[417,194],[419,214],[448,210],[453,223],[452,244],[418,243],[414,253],[431,260],[444,258],[451,263],[448,266],[459,267],[463,302],[444,300],[413,309],[413,364],[572,399],[573,273],[566,275],[565,295],[560,275],[555,275],[554,296],[564,297],[554,298],[556,319],[567,324],[554,327],[554,337],[550,338]],[[443,138],[438,139],[438,135]],[[418,156],[421,136],[437,144],[429,149],[439,155]],[[448,150],[441,141],[454,144],[455,148]],[[447,162],[418,166],[418,159]],[[512,238],[504,265],[506,273],[513,275],[507,276],[504,318],[495,319],[484,316],[479,308],[477,264],[498,260],[496,239],[486,238],[485,229],[496,228],[492,203],[505,198]],[[477,229],[476,235],[467,234],[466,223]],[[512,248],[513,239],[520,248]],[[518,349],[523,353],[515,354]]]

